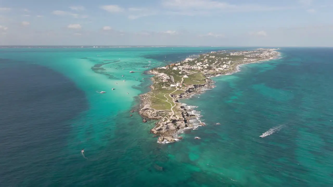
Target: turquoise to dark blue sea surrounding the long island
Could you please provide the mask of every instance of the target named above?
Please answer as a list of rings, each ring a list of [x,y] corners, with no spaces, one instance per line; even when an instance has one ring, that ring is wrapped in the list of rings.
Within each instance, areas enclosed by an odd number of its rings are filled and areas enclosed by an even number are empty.
[[[331,186],[333,48],[282,48],[212,78],[181,100],[207,126],[176,143],[130,112],[145,71],[227,49],[0,49],[0,186]]]

